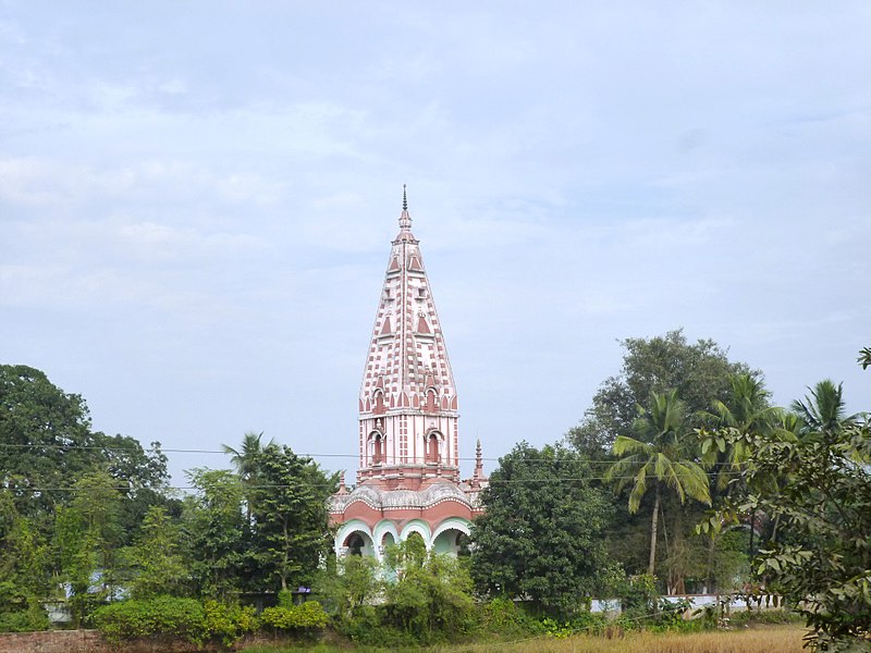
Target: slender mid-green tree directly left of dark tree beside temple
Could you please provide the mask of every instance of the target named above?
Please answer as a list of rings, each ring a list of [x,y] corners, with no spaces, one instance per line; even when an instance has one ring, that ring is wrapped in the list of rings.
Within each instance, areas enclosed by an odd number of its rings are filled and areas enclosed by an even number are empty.
[[[242,589],[248,550],[240,478],[224,469],[187,472],[197,492],[185,500],[183,533],[198,594],[226,600]],[[252,588],[255,589],[255,588]]]

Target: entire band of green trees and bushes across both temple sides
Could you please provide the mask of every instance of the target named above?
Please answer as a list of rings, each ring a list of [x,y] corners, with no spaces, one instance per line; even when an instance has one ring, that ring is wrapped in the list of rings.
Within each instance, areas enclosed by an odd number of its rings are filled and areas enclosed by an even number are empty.
[[[115,638],[329,624],[398,644],[588,627],[593,596],[621,599],[627,627],[677,627],[661,593],[765,591],[823,644],[867,633],[871,439],[841,386],[780,408],[712,341],[623,345],[578,427],[500,459],[458,559],[412,538],[380,566],[333,556],[338,475],[311,459],[248,433],[232,470],[193,469],[177,495],[158,443],[94,432],[82,397],[0,366],[0,629],[46,627],[58,600]],[[317,603],[293,605],[298,588]]]

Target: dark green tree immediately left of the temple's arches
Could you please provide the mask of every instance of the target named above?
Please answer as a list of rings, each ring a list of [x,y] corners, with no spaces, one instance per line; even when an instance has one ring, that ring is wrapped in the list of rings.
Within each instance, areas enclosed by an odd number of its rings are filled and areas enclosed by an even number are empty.
[[[328,501],[339,476],[279,445],[265,447],[256,466],[252,544],[263,581],[280,590],[310,583],[331,550]]]

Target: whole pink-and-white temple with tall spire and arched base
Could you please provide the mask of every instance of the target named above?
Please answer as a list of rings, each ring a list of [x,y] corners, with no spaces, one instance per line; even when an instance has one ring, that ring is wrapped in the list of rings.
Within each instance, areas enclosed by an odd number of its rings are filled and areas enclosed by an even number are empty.
[[[457,393],[447,348],[403,189],[359,395],[359,469],[342,479],[331,517],[336,555],[381,558],[418,533],[428,550],[456,555],[482,512],[487,485],[478,442],[462,481]]]

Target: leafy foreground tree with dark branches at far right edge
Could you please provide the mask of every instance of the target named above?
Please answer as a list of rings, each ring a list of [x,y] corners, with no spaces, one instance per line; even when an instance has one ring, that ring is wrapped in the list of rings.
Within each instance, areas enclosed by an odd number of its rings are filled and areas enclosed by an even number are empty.
[[[818,651],[867,651],[871,637],[871,422],[844,417],[841,386],[818,383],[793,404],[800,438],[719,433],[750,456],[743,491],[716,519],[736,523],[748,510],[781,520],[789,537],[755,559],[768,591],[780,592],[807,618]],[[787,482],[777,482],[786,478]]]

